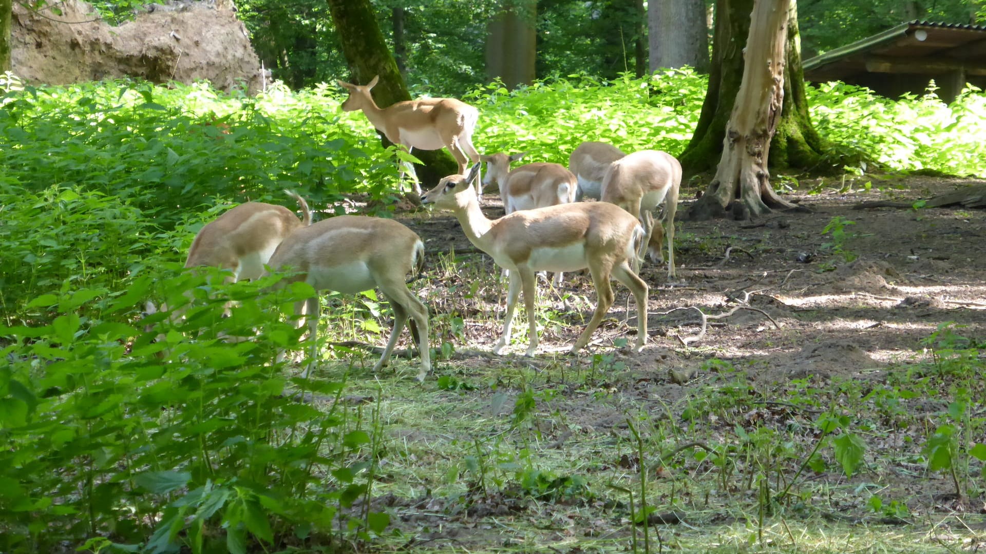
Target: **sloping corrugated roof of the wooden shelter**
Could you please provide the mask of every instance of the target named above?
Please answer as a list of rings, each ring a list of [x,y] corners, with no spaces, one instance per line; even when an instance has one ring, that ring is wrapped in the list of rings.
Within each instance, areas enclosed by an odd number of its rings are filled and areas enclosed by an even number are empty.
[[[805,76],[812,81],[845,80],[868,71],[867,62],[873,67],[874,58],[884,64],[934,58],[986,67],[986,26],[921,20],[903,23],[806,60]],[[927,69],[928,64],[924,66]]]

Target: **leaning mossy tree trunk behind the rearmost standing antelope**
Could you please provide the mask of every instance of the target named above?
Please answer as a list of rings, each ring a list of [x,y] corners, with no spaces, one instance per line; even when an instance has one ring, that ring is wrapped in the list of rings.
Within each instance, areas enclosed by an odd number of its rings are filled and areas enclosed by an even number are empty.
[[[328,0],[332,23],[342,43],[342,53],[346,56],[350,82],[366,85],[380,76],[380,83],[373,89],[374,101],[381,107],[411,100],[407,86],[400,77],[397,64],[387,49],[384,34],[377,24],[370,0]],[[378,132],[384,146],[391,143]],[[415,150],[412,154],[424,163],[415,169],[423,187],[430,187],[444,176],[458,173],[458,163],[445,149]]]

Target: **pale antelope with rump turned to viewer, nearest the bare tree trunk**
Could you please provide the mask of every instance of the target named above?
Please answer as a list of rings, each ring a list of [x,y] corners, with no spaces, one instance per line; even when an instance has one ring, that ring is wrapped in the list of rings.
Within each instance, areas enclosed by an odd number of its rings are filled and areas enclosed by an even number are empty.
[[[657,150],[641,150],[612,162],[602,178],[600,197],[637,216],[647,234],[651,261],[664,261],[662,239],[668,237],[668,278],[674,278],[674,212],[677,210],[681,164]],[[654,209],[665,203],[661,225]]]

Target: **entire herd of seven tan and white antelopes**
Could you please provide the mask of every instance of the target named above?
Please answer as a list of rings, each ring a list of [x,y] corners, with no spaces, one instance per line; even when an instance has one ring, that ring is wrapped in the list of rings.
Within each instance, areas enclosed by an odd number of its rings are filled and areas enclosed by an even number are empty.
[[[503,333],[493,348],[500,354],[510,345],[511,323],[523,291],[528,311],[528,350],[537,350],[534,313],[535,272],[589,268],[598,295],[596,312],[572,345],[576,352],[589,343],[613,303],[609,278],[626,285],[637,306],[637,341],[647,341],[647,283],[637,273],[645,251],[652,261],[664,261],[662,242],[668,239],[668,275],[674,277],[674,211],[681,166],[664,152],[644,150],[624,155],[601,142],[582,143],[559,164],[527,164],[511,170],[524,155],[481,156],[472,146],[478,110],[455,99],[421,99],[380,108],[370,95],[377,84],[338,81],[349,91],[346,111],[362,110],[394,144],[421,150],[448,148],[458,161],[458,174],[441,179],[421,194],[424,204],[456,215],[465,236],[509,271],[507,312]],[[485,176],[479,169],[486,163]],[[472,167],[468,168],[468,164]],[[413,172],[413,168],[410,168]],[[401,175],[403,172],[401,172]],[[480,210],[482,185],[496,182],[506,215],[490,220]],[[475,187],[471,186],[475,183]],[[214,266],[233,271],[232,280],[256,279],[267,269],[290,270],[288,281],[305,281],[316,291],[356,294],[380,289],[393,310],[393,329],[375,371],[387,364],[404,323],[418,345],[423,381],[431,371],[428,349],[428,310],[406,285],[408,274],[421,270],[424,244],[410,229],[393,220],[337,216],[312,223],[308,203],[289,192],[304,214],[302,220],[283,207],[247,202],[225,212],[198,233],[185,267]],[[582,202],[584,197],[601,200]],[[654,225],[654,210],[664,203],[664,221]],[[317,360],[318,297],[298,303],[298,315],[310,328],[311,369]],[[409,320],[408,320],[409,319]],[[308,372],[308,370],[306,370]]]

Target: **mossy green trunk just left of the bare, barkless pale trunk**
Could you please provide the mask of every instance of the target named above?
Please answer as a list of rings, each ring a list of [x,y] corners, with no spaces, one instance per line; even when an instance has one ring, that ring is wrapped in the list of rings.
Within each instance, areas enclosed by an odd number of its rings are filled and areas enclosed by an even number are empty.
[[[691,141],[678,157],[685,174],[712,168],[722,154],[726,123],[740,90],[743,73],[742,45],[749,34],[749,14],[753,0],[716,0],[712,36],[712,66],[709,89],[698,116]]]

